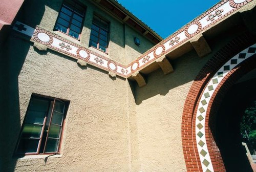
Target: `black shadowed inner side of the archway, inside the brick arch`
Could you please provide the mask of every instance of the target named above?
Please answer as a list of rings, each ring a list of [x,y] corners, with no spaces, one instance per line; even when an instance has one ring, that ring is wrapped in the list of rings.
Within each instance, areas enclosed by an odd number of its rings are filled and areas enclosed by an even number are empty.
[[[234,84],[222,100],[215,119],[209,121],[214,126],[213,135],[227,171],[252,171],[242,145],[240,122],[248,104],[256,100],[255,85],[255,78]]]

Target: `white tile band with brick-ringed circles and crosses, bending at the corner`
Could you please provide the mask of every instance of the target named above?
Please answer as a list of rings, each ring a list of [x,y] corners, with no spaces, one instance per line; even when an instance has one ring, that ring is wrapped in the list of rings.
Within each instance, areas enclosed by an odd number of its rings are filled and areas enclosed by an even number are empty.
[[[130,77],[133,73],[153,63],[157,58],[166,55],[173,49],[181,46],[191,37],[214,26],[234,11],[254,0],[223,0],[205,13],[194,19],[192,22],[159,42],[158,45],[142,54],[129,65],[122,65],[108,57],[99,55],[84,46],[75,44],[56,33],[37,26],[35,29],[20,22],[16,22],[13,30],[31,37],[31,41],[47,46],[49,49],[60,52],[72,58],[87,61],[92,66],[104,71],[114,72],[123,78]],[[111,66],[109,66],[111,64]]]

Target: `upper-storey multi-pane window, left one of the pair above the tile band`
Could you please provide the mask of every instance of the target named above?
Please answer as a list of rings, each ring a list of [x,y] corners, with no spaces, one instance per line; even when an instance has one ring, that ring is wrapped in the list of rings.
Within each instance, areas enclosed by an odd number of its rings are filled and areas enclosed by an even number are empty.
[[[85,12],[86,8],[82,5],[71,0],[65,0],[61,6],[54,30],[79,39]]]

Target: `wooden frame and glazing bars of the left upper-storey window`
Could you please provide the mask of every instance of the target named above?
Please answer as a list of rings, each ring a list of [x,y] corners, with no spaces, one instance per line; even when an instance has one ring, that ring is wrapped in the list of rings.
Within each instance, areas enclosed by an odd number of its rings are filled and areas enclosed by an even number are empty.
[[[82,15],[79,14],[78,12],[76,12],[76,10],[79,10],[76,6],[79,6],[79,8],[82,8],[82,9],[83,9],[83,11],[82,11],[83,14],[82,14]],[[67,15],[67,13],[61,11],[62,8],[66,8],[66,9],[68,9],[68,10],[71,12],[71,16],[70,16],[70,19],[69,19],[69,20],[68,20],[68,19],[65,19],[65,18],[63,18],[63,17],[60,16],[61,13]],[[87,9],[86,6],[80,4],[80,3],[77,2],[77,1],[74,1],[74,2],[71,1],[71,0],[65,0],[65,1],[63,1],[62,5],[61,5],[61,8],[60,8],[60,10],[59,10],[58,17],[57,17],[57,19],[56,19],[56,23],[55,23],[55,26],[54,26],[54,31],[59,31],[59,32],[65,33],[65,34],[67,34],[67,35],[69,35],[69,36],[71,36],[71,37],[73,37],[73,38],[75,38],[75,39],[80,40],[81,32],[82,32],[82,28],[83,28],[83,23],[84,23],[84,18],[85,18],[85,16],[86,16],[86,9]],[[79,22],[77,19],[75,19],[75,18],[74,18],[74,14],[78,15],[79,17],[81,17],[81,18],[82,18],[82,21]],[[65,20],[65,22],[68,22],[68,23],[69,23],[66,32],[64,32],[64,31],[62,31],[62,30],[59,30],[59,29],[57,28],[58,25],[63,26],[62,24],[58,23],[58,19]],[[74,19],[74,20],[77,20],[77,22],[81,23],[81,26],[79,27],[79,26],[73,24],[73,23],[72,23],[72,20],[73,20],[73,19]],[[72,24],[73,24],[75,27],[77,27],[77,28],[80,29],[79,34],[78,34],[78,37],[72,36],[72,35],[70,34],[70,33],[71,33],[70,30],[71,30],[71,25],[72,25]],[[66,26],[63,26],[63,27],[66,28]],[[76,33],[77,33],[77,32],[76,32]]]

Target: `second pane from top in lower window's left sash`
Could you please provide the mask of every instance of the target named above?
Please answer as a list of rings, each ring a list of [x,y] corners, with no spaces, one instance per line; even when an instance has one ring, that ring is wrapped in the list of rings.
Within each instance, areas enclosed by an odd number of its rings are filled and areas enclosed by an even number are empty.
[[[27,117],[26,117],[26,123],[43,124],[45,115],[46,115],[46,112],[28,111]]]

